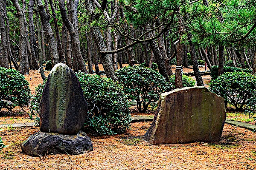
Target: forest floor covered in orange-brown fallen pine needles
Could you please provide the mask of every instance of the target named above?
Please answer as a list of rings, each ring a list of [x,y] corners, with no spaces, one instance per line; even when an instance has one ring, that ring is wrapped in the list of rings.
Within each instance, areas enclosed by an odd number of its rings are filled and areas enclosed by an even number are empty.
[[[175,71],[175,67],[173,67]],[[100,65],[100,70],[102,67]],[[204,71],[204,68],[200,68]],[[183,72],[192,69],[183,68]],[[49,74],[48,71],[45,72]],[[203,76],[208,85],[209,76]],[[26,76],[31,93],[42,83],[38,71],[30,71]],[[0,124],[33,122],[28,119],[28,108],[15,108],[12,112],[0,111]],[[132,114],[139,114],[133,111]],[[148,115],[154,114],[153,111]],[[242,114],[229,113],[228,118],[246,122]],[[251,124],[255,122],[251,121]],[[50,154],[32,157],[21,152],[21,144],[39,127],[0,130],[3,143],[9,145],[0,150],[0,170],[256,170],[256,133],[241,127],[225,124],[220,142],[190,144],[151,145],[143,140],[151,122],[131,123],[131,129],[124,134],[113,136],[93,136],[93,151],[81,155]]]

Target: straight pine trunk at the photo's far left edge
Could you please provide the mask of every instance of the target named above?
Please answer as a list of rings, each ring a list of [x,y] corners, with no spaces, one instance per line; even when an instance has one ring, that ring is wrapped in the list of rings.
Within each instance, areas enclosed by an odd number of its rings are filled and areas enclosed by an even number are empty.
[[[0,56],[0,65],[5,68],[9,68],[8,65],[8,52],[7,52],[7,37],[6,37],[6,0],[0,0],[0,32],[1,32],[1,49],[2,56]]]

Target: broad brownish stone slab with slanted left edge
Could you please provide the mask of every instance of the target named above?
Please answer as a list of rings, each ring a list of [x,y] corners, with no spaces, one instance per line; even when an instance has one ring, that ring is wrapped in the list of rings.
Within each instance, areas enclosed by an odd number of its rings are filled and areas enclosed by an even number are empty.
[[[224,98],[205,87],[175,89],[161,94],[144,139],[151,144],[217,142],[225,119]]]

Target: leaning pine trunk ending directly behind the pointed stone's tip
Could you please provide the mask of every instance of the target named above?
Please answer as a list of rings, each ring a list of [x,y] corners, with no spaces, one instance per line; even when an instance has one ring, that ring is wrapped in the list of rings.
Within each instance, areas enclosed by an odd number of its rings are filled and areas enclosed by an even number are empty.
[[[44,31],[46,33],[46,37],[49,44],[49,51],[52,61],[52,67],[58,63],[58,50],[57,50],[57,43],[55,41],[54,34],[52,32],[51,25],[49,23],[49,15],[47,15],[43,3],[41,0],[38,0],[38,11],[41,17],[41,22],[44,27]]]

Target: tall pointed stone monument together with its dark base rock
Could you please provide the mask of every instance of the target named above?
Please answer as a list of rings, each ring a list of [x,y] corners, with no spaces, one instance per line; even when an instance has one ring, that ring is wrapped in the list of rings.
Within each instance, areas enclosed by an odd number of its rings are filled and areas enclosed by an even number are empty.
[[[50,72],[40,102],[40,131],[23,142],[32,156],[49,153],[80,154],[93,150],[90,138],[80,129],[87,116],[87,102],[75,73],[64,64]]]

